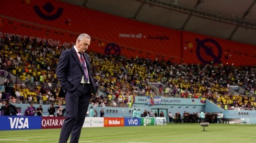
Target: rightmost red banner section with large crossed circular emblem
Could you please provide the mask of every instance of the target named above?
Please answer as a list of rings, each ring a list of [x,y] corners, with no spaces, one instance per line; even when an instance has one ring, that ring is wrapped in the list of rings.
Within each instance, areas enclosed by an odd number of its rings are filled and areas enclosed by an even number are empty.
[[[183,32],[183,57],[188,63],[256,64],[256,46]]]

